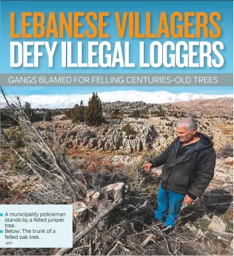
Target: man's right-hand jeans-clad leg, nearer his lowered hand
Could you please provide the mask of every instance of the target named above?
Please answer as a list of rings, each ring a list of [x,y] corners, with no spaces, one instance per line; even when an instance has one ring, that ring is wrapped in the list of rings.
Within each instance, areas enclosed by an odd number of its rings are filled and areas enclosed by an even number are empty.
[[[169,213],[165,221],[165,226],[175,227],[185,195],[181,195],[179,193],[175,193],[170,190],[168,191],[168,195],[169,195]]]

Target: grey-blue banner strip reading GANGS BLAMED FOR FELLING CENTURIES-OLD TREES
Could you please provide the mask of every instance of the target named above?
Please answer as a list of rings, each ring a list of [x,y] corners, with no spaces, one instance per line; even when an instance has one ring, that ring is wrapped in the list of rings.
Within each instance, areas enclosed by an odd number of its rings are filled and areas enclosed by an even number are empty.
[[[5,73],[3,86],[233,86],[232,73]]]

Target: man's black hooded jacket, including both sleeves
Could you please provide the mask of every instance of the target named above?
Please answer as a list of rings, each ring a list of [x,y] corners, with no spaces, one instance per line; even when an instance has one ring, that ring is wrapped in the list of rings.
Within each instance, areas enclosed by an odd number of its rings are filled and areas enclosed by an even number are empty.
[[[211,139],[198,133],[200,140],[189,149],[178,155],[181,142],[179,138],[160,156],[153,158],[153,167],[161,166],[161,186],[171,191],[189,195],[190,198],[200,197],[214,177],[216,152]]]

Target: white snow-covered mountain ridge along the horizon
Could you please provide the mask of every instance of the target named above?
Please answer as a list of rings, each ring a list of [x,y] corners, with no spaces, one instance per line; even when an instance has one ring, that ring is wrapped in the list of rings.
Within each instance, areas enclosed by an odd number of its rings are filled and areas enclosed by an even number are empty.
[[[84,105],[88,104],[92,94],[51,94],[51,95],[30,95],[20,96],[22,102],[29,102],[32,108],[73,108],[75,104],[79,104],[80,100]],[[189,100],[200,99],[217,99],[217,98],[233,98],[233,94],[194,94],[183,92],[173,94],[167,91],[158,92],[140,92],[137,90],[99,92],[102,102],[145,102],[148,104],[165,104],[175,102],[187,102]]]

